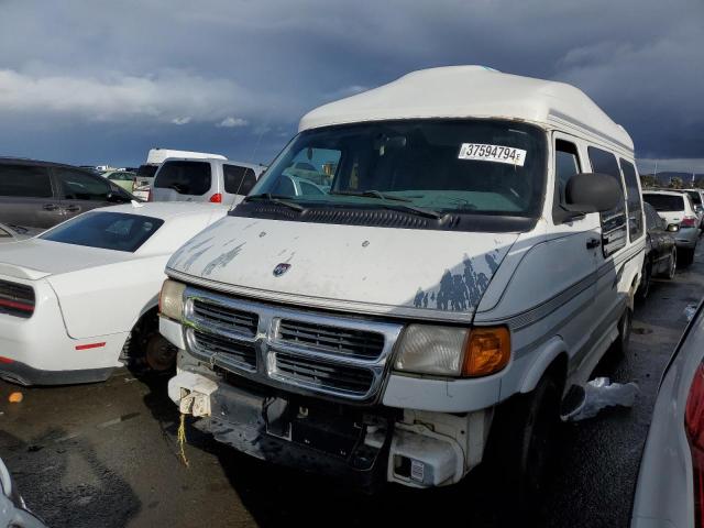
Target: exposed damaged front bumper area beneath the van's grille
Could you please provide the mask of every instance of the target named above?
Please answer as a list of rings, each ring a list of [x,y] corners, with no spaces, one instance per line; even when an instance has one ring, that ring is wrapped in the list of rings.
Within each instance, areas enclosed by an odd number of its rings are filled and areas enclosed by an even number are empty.
[[[459,482],[481,461],[491,416],[360,407],[179,369],[168,394],[200,430],[272,463],[373,487]]]

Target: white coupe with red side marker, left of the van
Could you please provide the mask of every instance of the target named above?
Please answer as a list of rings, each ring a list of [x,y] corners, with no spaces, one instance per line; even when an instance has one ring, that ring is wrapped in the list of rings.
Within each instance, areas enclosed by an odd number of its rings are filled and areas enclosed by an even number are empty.
[[[0,245],[0,377],[22,385],[99,382],[124,363],[172,367],[158,333],[169,256],[227,208],[136,204],[86,212]]]

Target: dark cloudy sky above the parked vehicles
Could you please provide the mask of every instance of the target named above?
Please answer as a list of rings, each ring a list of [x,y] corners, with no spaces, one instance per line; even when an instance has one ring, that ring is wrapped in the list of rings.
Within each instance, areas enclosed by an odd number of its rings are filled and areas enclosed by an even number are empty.
[[[308,109],[408,70],[572,82],[646,158],[702,158],[704,9],[653,0],[0,1],[3,153],[267,161]]]

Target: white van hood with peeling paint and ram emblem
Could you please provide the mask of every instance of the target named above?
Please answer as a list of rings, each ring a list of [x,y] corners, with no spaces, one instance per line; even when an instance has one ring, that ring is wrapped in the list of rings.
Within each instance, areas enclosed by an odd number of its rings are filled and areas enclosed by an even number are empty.
[[[226,217],[167,273],[279,302],[466,321],[517,238]]]

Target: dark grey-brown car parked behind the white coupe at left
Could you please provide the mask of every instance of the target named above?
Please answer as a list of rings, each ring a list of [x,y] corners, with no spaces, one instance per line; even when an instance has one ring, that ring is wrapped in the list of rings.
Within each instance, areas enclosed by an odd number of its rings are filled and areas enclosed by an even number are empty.
[[[133,198],[103,177],[72,165],[0,158],[0,222],[46,229]]]

